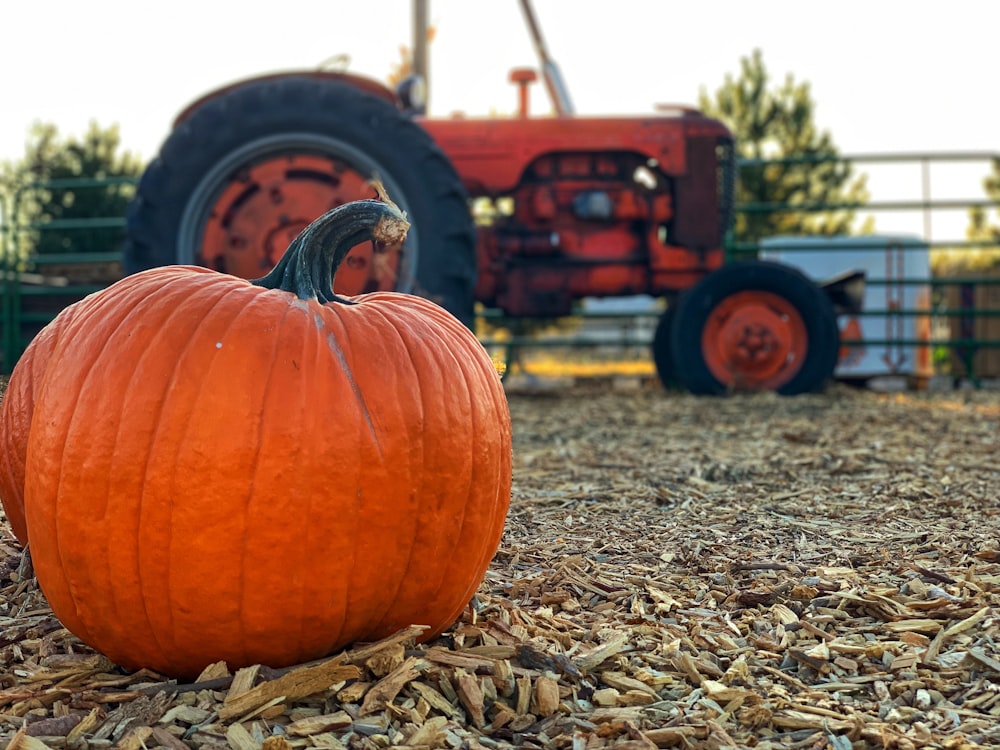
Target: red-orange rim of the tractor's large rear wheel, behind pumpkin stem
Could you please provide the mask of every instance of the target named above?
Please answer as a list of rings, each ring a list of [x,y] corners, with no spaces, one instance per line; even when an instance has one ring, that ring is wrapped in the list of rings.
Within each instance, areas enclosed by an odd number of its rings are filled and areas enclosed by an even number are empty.
[[[197,262],[245,279],[263,276],[306,225],[331,208],[374,198],[366,178],[344,162],[306,154],[277,156],[240,169],[216,199]],[[396,287],[399,253],[357,245],[341,264],[338,294]]]

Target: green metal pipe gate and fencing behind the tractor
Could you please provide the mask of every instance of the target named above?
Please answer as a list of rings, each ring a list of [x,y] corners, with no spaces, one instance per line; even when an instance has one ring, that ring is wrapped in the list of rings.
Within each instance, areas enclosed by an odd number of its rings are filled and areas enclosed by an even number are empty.
[[[979,183],[972,180],[968,191],[981,193],[981,178],[988,173],[990,165],[1000,159],[1000,154],[908,154],[908,155],[867,155],[840,157],[837,160],[855,165],[895,164],[914,171],[914,181],[920,185],[918,199],[871,201],[861,204],[742,204],[737,206],[743,213],[774,212],[832,212],[852,210],[876,217],[887,212],[909,212],[923,218],[923,229],[918,232],[921,246],[931,253],[949,252],[961,260],[963,254],[972,257],[983,251],[995,253],[992,268],[970,268],[954,273],[931,273],[926,277],[907,277],[898,272],[901,254],[912,252],[909,246],[900,246],[887,254],[884,273],[869,273],[870,286],[887,288],[887,304],[869,308],[864,316],[878,317],[886,321],[878,336],[865,334],[863,338],[852,337],[851,331],[842,333],[842,343],[850,347],[886,348],[892,355],[894,348],[907,346],[927,346],[933,356],[935,372],[948,373],[955,377],[968,378],[978,384],[982,378],[1000,377],[1000,247],[991,242],[968,242],[954,239],[935,241],[932,235],[933,218],[942,211],[964,211],[973,207],[989,209],[998,201],[986,199],[935,199],[932,197],[932,171],[935,165],[973,164],[980,173]],[[830,159],[789,159],[769,162],[743,161],[741,169],[760,167],[771,163],[798,164],[808,168]],[[2,273],[3,304],[0,310],[2,322],[2,349],[0,349],[0,371],[9,373],[31,337],[66,305],[104,288],[121,274],[121,257],[117,248],[109,247],[101,252],[88,253],[45,253],[43,255],[26,252],[33,233],[53,232],[72,236],[74,232],[94,228],[121,228],[124,219],[120,216],[90,217],[63,221],[51,221],[34,225],[18,224],[14,218],[19,215],[19,204],[31,197],[32,191],[73,188],[88,190],[105,188],[109,184],[123,184],[129,180],[61,180],[46,184],[31,185],[13,196],[8,196],[0,206],[0,273]],[[873,243],[873,252],[885,253],[884,245]],[[756,257],[761,247],[756,244],[735,244],[728,247],[730,258]],[[956,264],[961,269],[962,263]],[[903,303],[903,290],[911,286],[927,285],[932,290],[929,309]],[[648,347],[653,322],[650,318],[659,314],[659,308],[627,310],[617,313],[588,313],[586,308],[579,311],[583,321],[577,330],[565,330],[548,335],[519,335],[507,337],[483,336],[485,344],[502,347],[508,351],[534,347],[571,348],[602,346]],[[930,317],[933,322],[930,338],[907,336],[908,319]],[[510,323],[504,321],[495,311],[482,311],[484,320],[494,326]],[[600,336],[593,335],[598,320],[619,319],[620,335],[611,338],[604,325]],[[591,325],[588,326],[588,321]],[[516,322],[515,322],[516,323]],[[517,330],[516,325],[512,326]],[[614,330],[613,328],[610,330]]]

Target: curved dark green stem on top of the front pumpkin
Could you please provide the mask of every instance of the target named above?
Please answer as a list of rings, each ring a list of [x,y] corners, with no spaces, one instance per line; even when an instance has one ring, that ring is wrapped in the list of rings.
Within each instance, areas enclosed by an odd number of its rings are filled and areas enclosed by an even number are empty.
[[[409,228],[406,215],[388,199],[345,203],[303,229],[271,272],[250,283],[299,299],[354,304],[333,292],[333,277],[347,253],[365,240],[374,242],[376,252],[401,245]]]

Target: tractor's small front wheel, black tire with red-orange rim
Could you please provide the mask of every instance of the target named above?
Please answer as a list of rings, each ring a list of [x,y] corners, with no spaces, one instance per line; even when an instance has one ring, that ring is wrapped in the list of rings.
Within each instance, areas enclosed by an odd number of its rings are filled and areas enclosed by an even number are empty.
[[[671,326],[674,375],[689,391],[820,390],[839,352],[826,293],[779,263],[723,266],[689,289]]]

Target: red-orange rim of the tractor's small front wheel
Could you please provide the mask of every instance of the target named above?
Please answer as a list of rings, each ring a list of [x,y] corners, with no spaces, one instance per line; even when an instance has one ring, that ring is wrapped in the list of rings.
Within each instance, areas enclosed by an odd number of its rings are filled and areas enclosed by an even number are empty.
[[[726,297],[709,313],[701,350],[720,383],[740,390],[773,390],[802,368],[809,336],[802,315],[772,292]]]

